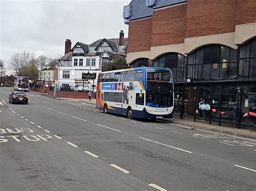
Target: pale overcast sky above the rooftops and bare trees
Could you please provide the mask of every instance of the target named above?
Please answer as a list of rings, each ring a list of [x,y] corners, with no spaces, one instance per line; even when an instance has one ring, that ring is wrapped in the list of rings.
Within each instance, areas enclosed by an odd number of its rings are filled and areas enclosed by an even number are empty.
[[[128,36],[123,6],[131,0],[0,0],[0,58],[8,66],[15,52],[53,58],[64,54],[65,40],[85,44]]]

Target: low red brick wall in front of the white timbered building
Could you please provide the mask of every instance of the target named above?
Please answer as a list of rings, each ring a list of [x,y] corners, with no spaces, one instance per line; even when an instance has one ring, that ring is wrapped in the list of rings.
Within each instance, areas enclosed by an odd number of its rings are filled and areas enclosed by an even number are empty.
[[[54,95],[54,91],[49,91],[50,95]],[[92,98],[95,98],[95,94],[92,94]],[[88,98],[88,92],[78,92],[78,91],[56,91],[56,97],[66,97],[66,98]]]

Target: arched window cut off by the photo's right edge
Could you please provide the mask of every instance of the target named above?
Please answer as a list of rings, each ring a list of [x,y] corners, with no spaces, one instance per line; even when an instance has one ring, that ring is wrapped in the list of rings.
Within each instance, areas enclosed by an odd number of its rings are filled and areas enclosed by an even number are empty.
[[[239,79],[256,78],[256,38],[239,46]]]

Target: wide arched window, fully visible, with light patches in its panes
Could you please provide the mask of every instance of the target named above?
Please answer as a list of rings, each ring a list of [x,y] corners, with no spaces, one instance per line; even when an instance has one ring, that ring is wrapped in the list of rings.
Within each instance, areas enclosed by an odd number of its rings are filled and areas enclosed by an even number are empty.
[[[237,51],[224,45],[210,45],[188,54],[187,77],[194,80],[234,79]]]

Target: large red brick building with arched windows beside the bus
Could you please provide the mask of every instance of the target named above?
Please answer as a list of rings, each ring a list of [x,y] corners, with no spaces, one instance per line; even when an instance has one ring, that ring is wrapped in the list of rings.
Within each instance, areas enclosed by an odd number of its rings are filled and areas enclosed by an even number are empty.
[[[255,10],[255,0],[132,0],[127,63],[170,68],[177,112],[185,100],[197,118],[203,97],[210,122],[256,126]]]

